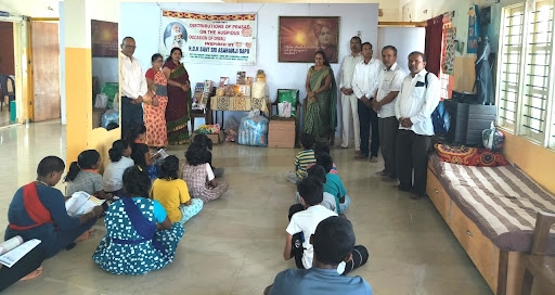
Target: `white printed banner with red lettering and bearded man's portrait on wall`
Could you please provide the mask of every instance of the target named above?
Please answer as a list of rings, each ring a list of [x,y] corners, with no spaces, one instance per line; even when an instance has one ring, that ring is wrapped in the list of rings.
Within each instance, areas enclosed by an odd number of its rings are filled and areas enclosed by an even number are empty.
[[[163,11],[160,53],[180,48],[185,63],[256,64],[257,15]]]

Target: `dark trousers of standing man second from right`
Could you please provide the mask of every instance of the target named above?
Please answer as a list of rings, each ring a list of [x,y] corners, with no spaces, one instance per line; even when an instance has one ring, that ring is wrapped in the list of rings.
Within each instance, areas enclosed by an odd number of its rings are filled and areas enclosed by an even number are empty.
[[[386,176],[397,179],[397,130],[399,130],[399,120],[396,116],[378,118],[379,144],[382,145],[382,156],[384,157],[384,172]]]

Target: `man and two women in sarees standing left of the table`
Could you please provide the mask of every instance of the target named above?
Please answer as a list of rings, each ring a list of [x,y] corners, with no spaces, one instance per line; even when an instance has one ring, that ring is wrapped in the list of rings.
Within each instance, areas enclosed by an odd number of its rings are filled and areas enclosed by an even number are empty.
[[[152,55],[152,67],[143,75],[141,64],[133,57],[135,48],[132,37],[124,38],[119,69],[122,136],[131,126],[144,125],[149,146],[188,143],[191,82],[181,63],[181,49],[171,49],[166,61],[159,53]]]

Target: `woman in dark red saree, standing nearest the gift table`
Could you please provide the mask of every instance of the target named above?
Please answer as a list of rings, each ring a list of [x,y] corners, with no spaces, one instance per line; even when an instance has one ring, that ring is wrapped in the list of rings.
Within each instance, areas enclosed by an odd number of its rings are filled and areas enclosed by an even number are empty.
[[[168,105],[166,126],[170,144],[189,143],[189,111],[191,110],[191,82],[189,73],[180,62],[180,48],[171,49],[162,72],[168,80]]]

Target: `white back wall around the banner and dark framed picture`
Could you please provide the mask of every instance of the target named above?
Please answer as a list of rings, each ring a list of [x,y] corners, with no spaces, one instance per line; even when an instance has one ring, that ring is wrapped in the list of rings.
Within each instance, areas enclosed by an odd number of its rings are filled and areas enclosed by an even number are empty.
[[[256,12],[258,14],[258,52],[256,65],[238,66],[190,63],[186,64],[185,67],[192,84],[205,79],[219,81],[221,76],[235,77],[237,70],[247,72],[247,76],[256,76],[256,70],[261,68],[266,73],[266,79],[272,100],[275,100],[276,90],[280,88],[299,89],[300,98],[304,99],[306,97],[306,74],[308,68],[312,65],[312,63],[278,62],[279,16],[340,16],[339,59],[343,59],[344,55],[350,52],[349,40],[358,30],[362,31],[361,38],[363,41],[370,41],[373,44],[377,41],[377,4],[163,3],[160,5],[164,10],[198,13]],[[158,52],[157,40],[160,39],[160,8],[155,3],[121,3],[120,11],[119,40],[126,36],[132,36],[135,39],[137,50],[134,56],[141,62],[143,70],[146,70],[151,66],[152,54]],[[339,64],[332,64],[336,77],[339,66]]]

